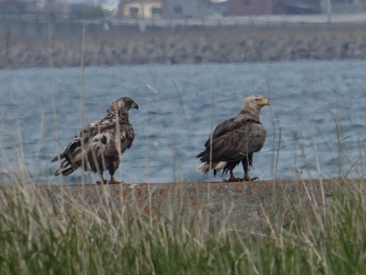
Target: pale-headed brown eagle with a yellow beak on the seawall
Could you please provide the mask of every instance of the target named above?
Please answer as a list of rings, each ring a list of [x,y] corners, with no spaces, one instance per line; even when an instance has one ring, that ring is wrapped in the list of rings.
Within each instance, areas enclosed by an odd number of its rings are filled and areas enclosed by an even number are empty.
[[[197,155],[202,162],[198,169],[208,173],[211,168],[215,176],[220,170],[229,171],[230,177],[224,181],[256,179],[251,179],[248,171],[253,166],[254,152],[260,151],[266,140],[266,129],[259,121],[259,113],[265,105],[269,105],[268,99],[259,94],[251,95],[244,100],[239,114],[217,125],[205,143],[205,151]],[[244,168],[243,179],[232,172],[240,162]]]

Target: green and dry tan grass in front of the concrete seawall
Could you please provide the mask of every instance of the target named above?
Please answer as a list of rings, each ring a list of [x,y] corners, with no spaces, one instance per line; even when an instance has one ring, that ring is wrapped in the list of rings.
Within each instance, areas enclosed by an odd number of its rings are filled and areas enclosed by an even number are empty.
[[[73,198],[56,206],[15,184],[0,190],[0,274],[365,274],[365,183],[351,185],[285,226],[266,218],[258,235]]]

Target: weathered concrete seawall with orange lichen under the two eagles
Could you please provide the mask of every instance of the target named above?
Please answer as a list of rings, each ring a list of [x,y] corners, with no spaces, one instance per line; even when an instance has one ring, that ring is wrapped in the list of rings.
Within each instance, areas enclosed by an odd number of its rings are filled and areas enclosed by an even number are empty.
[[[96,212],[117,209],[131,217],[151,215],[164,220],[179,216],[262,232],[267,217],[290,222],[291,212],[321,208],[323,198],[325,204],[331,202],[339,187],[339,180],[281,180],[42,186],[40,190],[56,207],[72,207],[76,200]]]

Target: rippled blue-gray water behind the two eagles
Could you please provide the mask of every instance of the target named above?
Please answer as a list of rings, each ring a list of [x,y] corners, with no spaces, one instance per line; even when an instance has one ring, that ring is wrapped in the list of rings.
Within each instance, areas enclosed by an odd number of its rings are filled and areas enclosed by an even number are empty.
[[[339,176],[339,162],[343,175],[357,163],[359,174],[350,175],[362,176],[365,68],[364,61],[87,67],[84,91],[80,68],[3,70],[0,169],[3,175],[22,171],[20,159],[37,181],[80,182],[80,171],[54,177],[57,164],[50,160],[82,125],[103,118],[113,100],[130,96],[140,107],[130,111],[137,136],[116,179],[207,180],[195,156],[212,127],[236,114],[246,96],[260,93],[271,100],[261,113],[268,136],[254,155],[251,176],[294,179],[300,169],[303,177],[318,177],[316,155],[322,177]],[[343,131],[339,138],[335,120]],[[242,166],[235,171],[243,176]]]

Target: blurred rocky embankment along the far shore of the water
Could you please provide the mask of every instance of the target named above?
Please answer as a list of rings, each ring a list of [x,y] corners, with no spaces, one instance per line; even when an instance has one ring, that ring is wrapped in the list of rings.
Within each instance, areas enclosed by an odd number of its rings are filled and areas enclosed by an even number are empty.
[[[83,56],[83,58],[82,58]],[[205,27],[0,39],[0,67],[365,59],[364,26]]]

